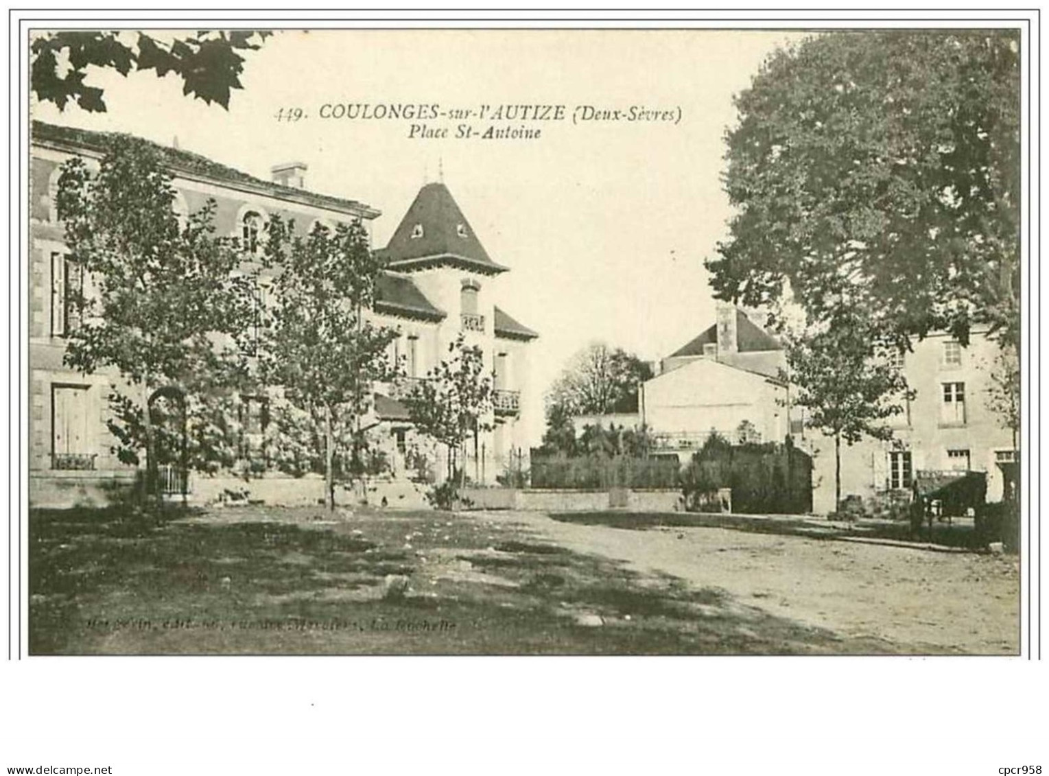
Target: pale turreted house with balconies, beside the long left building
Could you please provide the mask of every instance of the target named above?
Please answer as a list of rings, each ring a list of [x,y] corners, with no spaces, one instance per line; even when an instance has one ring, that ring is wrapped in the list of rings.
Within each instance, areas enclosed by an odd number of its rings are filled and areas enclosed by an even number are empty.
[[[447,470],[447,451],[415,432],[400,400],[450,358],[459,337],[480,348],[494,388],[491,414],[481,418],[491,430],[467,441],[459,467],[481,484],[527,469],[522,390],[529,343],[538,335],[495,304],[508,267],[488,255],[444,182],[422,188],[380,256],[387,273],[376,303],[378,322],[401,332],[390,359],[405,376],[379,386],[372,423],[394,476],[423,479],[420,464],[437,479]]]

